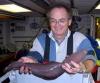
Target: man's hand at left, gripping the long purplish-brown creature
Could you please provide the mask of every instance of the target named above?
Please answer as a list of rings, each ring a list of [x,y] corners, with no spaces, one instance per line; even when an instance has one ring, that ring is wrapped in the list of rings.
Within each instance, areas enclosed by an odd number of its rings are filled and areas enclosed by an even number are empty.
[[[22,63],[38,63],[38,61],[31,57],[31,56],[28,56],[28,57],[22,57],[18,60],[18,62],[22,62]],[[27,66],[22,66],[19,70],[19,73],[32,73],[31,72],[31,68],[27,67]]]

